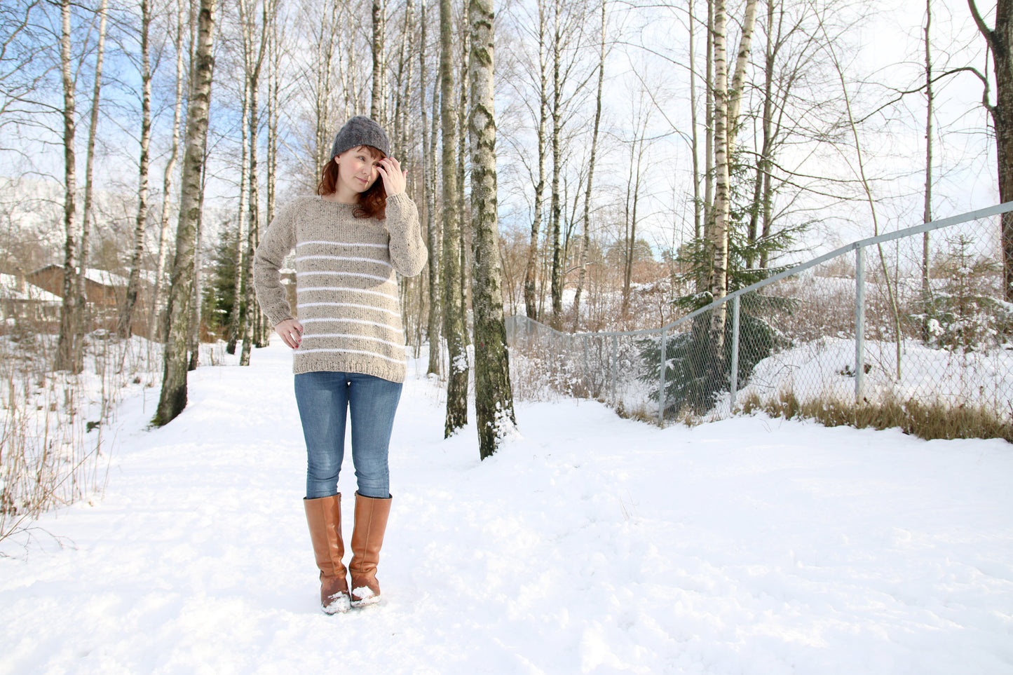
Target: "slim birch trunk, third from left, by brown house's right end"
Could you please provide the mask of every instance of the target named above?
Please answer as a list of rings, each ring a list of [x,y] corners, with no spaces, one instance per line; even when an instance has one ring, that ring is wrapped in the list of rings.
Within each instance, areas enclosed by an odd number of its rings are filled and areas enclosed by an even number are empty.
[[[134,226],[134,252],[130,261],[127,297],[120,315],[119,333],[130,338],[133,331],[134,306],[141,286],[141,256],[148,227],[148,149],[151,145],[151,54],[148,33],[151,27],[151,2],[141,0],[141,156],[138,161],[137,220]],[[154,312],[149,312],[154,320]]]

